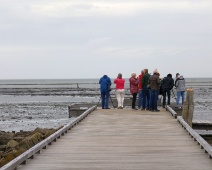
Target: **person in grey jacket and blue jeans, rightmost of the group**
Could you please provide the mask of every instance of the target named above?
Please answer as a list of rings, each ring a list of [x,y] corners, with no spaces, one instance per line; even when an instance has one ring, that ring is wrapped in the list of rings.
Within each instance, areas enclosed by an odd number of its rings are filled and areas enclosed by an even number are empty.
[[[180,97],[182,97],[182,105],[185,99],[185,79],[180,75],[178,81],[176,82],[177,100],[176,104],[179,105]]]

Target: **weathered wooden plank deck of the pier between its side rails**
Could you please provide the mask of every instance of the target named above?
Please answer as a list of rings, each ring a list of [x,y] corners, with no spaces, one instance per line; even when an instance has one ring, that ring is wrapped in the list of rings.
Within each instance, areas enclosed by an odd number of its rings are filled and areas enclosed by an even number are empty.
[[[97,109],[22,170],[211,170],[170,113]]]

